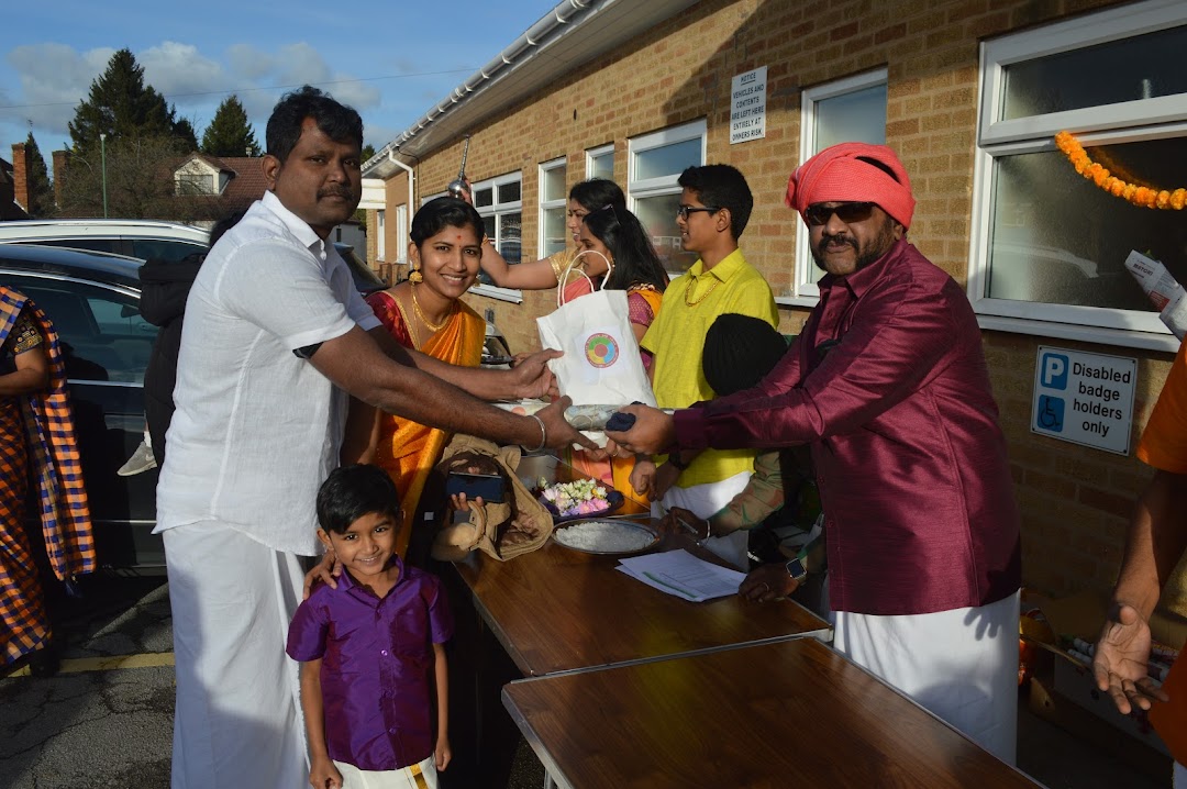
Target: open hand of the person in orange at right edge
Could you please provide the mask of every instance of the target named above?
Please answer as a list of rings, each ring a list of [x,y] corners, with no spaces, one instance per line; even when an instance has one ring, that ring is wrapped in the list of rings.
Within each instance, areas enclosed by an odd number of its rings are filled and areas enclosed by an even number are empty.
[[[1122,714],[1167,700],[1148,673],[1149,660],[1150,625],[1134,606],[1115,604],[1097,641],[1092,675],[1097,688],[1109,693]]]

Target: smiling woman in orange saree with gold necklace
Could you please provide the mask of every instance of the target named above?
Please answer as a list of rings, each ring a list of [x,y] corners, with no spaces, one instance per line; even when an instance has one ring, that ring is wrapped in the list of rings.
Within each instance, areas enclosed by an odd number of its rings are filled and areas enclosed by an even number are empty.
[[[367,297],[367,303],[405,348],[464,367],[482,361],[487,323],[462,303],[478,276],[485,231],[474,208],[438,197],[412,217],[408,279]],[[351,400],[343,463],[373,463],[391,475],[404,503],[396,552],[405,556],[420,494],[451,435]],[[363,440],[366,439],[366,441]]]

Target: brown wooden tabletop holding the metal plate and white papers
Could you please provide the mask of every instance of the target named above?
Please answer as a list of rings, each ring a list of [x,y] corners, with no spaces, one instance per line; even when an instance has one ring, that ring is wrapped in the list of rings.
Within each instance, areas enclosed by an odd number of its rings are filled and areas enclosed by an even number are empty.
[[[661,543],[677,547],[693,546],[681,536]],[[824,619],[792,600],[749,603],[731,594],[691,603],[628,577],[617,564],[550,540],[510,561],[476,551],[456,566],[525,676],[829,631]]]

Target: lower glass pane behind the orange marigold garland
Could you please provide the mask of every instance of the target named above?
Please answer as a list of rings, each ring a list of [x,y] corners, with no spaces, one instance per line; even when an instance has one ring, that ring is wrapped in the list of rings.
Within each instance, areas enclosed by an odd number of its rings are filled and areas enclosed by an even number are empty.
[[[1143,183],[1187,184],[1187,139],[1088,146]],[[1125,269],[1136,249],[1187,281],[1187,223],[1178,211],[1131,205],[1086,180],[1059,151],[998,157],[988,249],[988,295],[1154,312]]]

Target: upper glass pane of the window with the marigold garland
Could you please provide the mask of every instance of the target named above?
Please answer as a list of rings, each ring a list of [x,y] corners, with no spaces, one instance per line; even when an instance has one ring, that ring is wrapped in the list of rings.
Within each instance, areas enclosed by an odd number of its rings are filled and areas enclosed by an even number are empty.
[[[1187,93],[1187,26],[1004,66],[1002,120]]]

